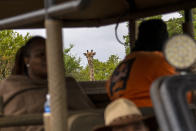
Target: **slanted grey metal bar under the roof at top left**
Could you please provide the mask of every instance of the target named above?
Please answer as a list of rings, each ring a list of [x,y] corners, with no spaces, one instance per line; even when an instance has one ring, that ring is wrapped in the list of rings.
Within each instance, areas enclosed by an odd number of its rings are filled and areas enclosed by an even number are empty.
[[[0,20],[0,29],[14,28],[44,20],[45,14],[51,17],[62,15],[63,13],[80,10],[86,7],[88,0],[69,1],[59,5],[51,6],[47,9],[40,9],[23,15]]]

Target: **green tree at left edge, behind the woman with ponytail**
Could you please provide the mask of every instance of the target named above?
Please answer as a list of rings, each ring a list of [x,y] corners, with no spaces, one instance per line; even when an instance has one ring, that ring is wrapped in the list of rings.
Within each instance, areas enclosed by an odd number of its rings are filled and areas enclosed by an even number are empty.
[[[28,33],[23,37],[13,30],[0,31],[0,80],[11,73],[17,50],[29,38]]]

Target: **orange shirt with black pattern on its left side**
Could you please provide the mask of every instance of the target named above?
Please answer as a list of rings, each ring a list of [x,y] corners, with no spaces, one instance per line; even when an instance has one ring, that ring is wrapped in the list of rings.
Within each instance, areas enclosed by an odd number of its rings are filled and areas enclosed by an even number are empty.
[[[161,52],[138,51],[126,56],[108,80],[106,88],[111,100],[125,97],[138,107],[151,107],[149,92],[152,82],[175,73]]]

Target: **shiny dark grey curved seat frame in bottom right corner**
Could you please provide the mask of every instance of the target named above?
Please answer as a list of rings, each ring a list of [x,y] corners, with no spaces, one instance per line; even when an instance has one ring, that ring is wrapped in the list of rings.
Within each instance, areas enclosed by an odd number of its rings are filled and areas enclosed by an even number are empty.
[[[196,75],[168,76],[151,87],[151,97],[159,125],[164,131],[195,131],[194,106],[187,93],[196,90]]]

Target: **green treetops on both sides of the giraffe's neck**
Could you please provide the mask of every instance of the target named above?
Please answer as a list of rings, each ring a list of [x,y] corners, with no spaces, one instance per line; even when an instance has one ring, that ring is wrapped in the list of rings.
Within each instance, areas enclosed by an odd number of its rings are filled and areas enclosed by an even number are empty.
[[[69,48],[64,49],[66,75],[72,76],[78,81],[89,81],[89,66],[82,67],[80,65],[81,58],[76,58],[70,53],[73,47],[73,44],[70,44]],[[105,62],[93,59],[95,80],[107,80],[119,64],[119,61],[120,59],[117,55],[111,55]]]

